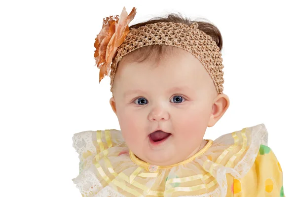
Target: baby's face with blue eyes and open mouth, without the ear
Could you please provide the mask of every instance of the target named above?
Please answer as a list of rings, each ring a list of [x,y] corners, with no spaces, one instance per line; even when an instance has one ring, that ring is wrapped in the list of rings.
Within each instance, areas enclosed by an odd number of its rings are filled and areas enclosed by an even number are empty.
[[[171,165],[198,151],[217,92],[204,66],[176,48],[158,63],[123,58],[113,95],[129,149],[149,164]]]

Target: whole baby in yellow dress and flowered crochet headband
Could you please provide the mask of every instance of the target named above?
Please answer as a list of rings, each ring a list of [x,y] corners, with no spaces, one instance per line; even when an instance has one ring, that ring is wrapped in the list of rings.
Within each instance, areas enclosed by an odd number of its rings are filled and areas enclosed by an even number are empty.
[[[105,18],[96,37],[121,131],[74,134],[82,196],[284,197],[263,124],[203,139],[229,106],[217,27],[174,14],[128,27],[135,15]]]

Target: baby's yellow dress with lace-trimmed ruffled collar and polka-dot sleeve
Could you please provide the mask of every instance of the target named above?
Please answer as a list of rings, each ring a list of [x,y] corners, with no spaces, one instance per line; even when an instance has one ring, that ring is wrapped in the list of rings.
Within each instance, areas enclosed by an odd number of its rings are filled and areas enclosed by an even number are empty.
[[[156,166],[129,151],[121,131],[73,136],[82,197],[284,197],[282,169],[263,124],[222,135],[191,158]]]

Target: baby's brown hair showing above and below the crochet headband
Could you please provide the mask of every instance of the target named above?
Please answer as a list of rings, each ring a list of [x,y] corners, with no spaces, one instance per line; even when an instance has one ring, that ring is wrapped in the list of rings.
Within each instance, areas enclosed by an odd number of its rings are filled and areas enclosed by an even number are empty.
[[[204,18],[199,18],[199,19],[204,19]],[[166,17],[155,17],[152,18],[146,22],[142,23],[137,23],[135,25],[130,26],[129,28],[132,29],[137,29],[139,27],[145,26],[147,24],[154,24],[158,22],[175,22],[175,23],[182,23],[190,26],[193,22],[198,23],[198,29],[212,37],[212,39],[216,42],[217,46],[220,48],[220,51],[222,50],[222,35],[219,31],[219,29],[212,24],[211,22],[205,22],[205,21],[200,21],[198,19],[191,21],[189,18],[183,17],[180,13],[175,14],[171,13],[167,15]],[[133,62],[143,62],[144,60],[148,58],[154,58],[156,57],[161,57],[162,55],[168,53],[168,52],[173,52],[175,47],[173,46],[167,46],[167,45],[149,45],[145,46],[142,48],[139,48],[126,56],[132,57]],[[120,62],[119,62],[120,64]]]

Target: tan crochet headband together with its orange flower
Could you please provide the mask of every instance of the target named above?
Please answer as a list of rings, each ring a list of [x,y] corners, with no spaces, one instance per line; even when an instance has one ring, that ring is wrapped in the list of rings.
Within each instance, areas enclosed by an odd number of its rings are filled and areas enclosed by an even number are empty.
[[[223,91],[223,71],[220,48],[212,37],[198,30],[198,23],[190,26],[175,22],[158,22],[139,28],[128,24],[136,15],[136,8],[127,15],[125,7],[120,17],[104,18],[103,28],[95,38],[95,60],[100,69],[99,82],[111,70],[111,92],[118,62],[123,56],[144,46],[163,44],[182,48],[196,57],[213,79],[218,94]]]

